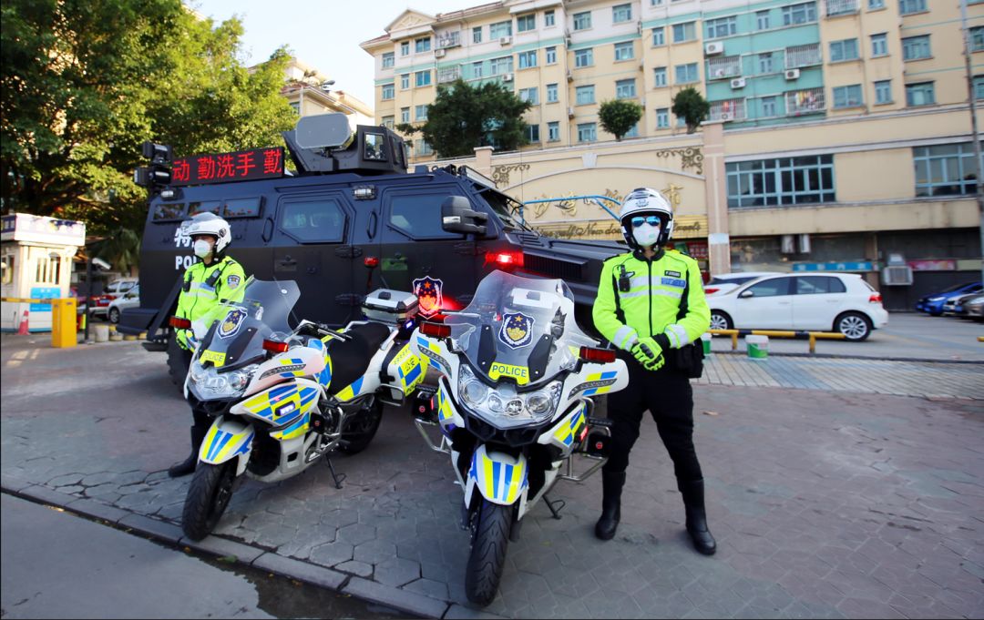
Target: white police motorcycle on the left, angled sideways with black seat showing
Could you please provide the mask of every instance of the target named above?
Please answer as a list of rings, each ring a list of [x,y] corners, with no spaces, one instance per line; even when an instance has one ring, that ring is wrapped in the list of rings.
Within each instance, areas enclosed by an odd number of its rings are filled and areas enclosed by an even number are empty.
[[[417,311],[413,295],[375,291],[363,304],[371,320],[340,330],[309,320],[291,328],[299,297],[296,282],[251,277],[243,301],[221,305],[197,343],[185,398],[215,422],[182,515],[182,529],[194,540],[215,529],[243,475],[276,482],[326,457],[341,488],[330,453],[365,449],[384,403],[399,404],[423,378],[405,344]]]

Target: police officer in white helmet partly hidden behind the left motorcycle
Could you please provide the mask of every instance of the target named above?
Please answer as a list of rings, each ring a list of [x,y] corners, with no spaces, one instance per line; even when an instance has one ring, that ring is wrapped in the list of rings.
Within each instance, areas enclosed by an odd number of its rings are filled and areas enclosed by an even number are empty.
[[[228,222],[215,213],[199,213],[185,222],[185,234],[191,237],[195,255],[201,258],[184,273],[181,296],[178,298],[176,316],[192,322],[192,329],[179,329],[175,334],[184,356],[185,367],[191,364],[195,348],[195,332],[203,335],[213,320],[218,318],[220,305],[225,302],[241,302],[245,292],[246,276],[242,266],[225,250],[232,241]],[[191,427],[191,455],[167,470],[171,478],[186,476],[195,471],[198,450],[205,439],[212,419],[204,412],[192,409],[194,423]]]

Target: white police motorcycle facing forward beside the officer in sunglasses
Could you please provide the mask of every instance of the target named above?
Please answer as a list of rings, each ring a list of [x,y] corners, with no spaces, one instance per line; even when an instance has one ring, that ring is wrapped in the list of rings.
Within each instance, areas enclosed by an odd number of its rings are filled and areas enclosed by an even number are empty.
[[[544,499],[559,518],[555,506],[563,502],[546,498],[554,483],[586,479],[607,461],[610,432],[591,418],[592,397],[625,388],[628,369],[584,334],[574,310],[563,280],[493,271],[467,308],[422,322],[411,336],[421,361],[438,370],[432,416],[416,423],[432,449],[451,455],[464,490],[465,592],[480,605],[499,589],[523,517]],[[428,423],[440,426],[440,443]],[[576,454],[595,461],[581,475]]]

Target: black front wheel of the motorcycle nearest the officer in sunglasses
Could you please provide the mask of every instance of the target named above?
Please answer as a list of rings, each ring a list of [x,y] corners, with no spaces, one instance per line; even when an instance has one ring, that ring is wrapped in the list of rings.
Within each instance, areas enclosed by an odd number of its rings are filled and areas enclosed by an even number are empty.
[[[468,600],[483,607],[499,592],[499,581],[506,565],[506,547],[513,526],[513,506],[495,504],[484,497],[478,508],[478,522],[471,536],[471,553],[464,574],[464,593]]]

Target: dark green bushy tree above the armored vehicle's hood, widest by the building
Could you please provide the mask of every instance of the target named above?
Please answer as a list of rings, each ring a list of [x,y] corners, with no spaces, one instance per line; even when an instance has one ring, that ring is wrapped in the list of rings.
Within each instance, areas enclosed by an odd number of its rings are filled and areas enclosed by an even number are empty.
[[[442,157],[470,155],[475,146],[487,144],[513,150],[526,142],[523,112],[530,107],[497,82],[472,87],[459,79],[438,85],[423,125],[400,123],[397,129],[403,134],[422,134]]]

